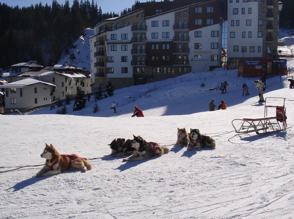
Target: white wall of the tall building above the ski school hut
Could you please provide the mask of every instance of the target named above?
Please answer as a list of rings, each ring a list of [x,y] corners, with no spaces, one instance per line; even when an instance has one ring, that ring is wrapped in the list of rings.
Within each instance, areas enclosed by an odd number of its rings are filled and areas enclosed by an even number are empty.
[[[233,9],[238,8],[238,14],[233,14]],[[245,8],[245,14],[242,14],[242,8]],[[251,14],[248,14],[248,8],[251,8]],[[234,25],[231,26],[231,20]],[[240,26],[236,26],[236,20],[240,21]],[[251,20],[251,26],[246,26],[246,20]],[[266,25],[266,19],[263,20]],[[242,32],[245,31],[245,38],[242,38]],[[248,32],[252,32],[252,37],[248,38]],[[230,38],[230,32],[235,32],[235,38]],[[258,32],[258,2],[243,2],[240,0],[236,3],[228,1],[228,58],[242,58],[242,46],[247,46],[247,52],[244,57],[262,57],[262,52],[258,53],[258,46],[262,48],[263,38],[257,37]],[[238,52],[233,52],[233,46],[239,46]],[[250,46],[255,46],[255,52],[250,53]]]

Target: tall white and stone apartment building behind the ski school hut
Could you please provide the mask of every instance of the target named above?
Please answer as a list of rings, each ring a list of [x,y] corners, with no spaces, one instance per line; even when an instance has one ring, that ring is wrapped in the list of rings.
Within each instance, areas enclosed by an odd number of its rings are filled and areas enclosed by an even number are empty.
[[[278,0],[228,0],[228,64],[238,67],[240,58],[278,56]]]

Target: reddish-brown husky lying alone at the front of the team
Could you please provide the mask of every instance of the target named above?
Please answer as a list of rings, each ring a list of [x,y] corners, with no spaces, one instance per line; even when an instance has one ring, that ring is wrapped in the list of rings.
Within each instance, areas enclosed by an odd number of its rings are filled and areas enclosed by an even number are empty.
[[[46,163],[36,176],[49,176],[59,174],[62,171],[70,169],[86,170],[92,169],[92,164],[86,161],[86,158],[77,156],[76,154],[60,155],[52,144],[45,144],[46,147],[41,154],[42,158],[46,158]]]

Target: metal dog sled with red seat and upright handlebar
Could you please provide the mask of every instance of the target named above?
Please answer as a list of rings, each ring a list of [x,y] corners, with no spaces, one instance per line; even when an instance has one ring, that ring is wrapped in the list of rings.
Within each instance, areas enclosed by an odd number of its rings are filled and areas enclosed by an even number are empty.
[[[283,99],[283,106],[272,106],[267,105],[267,99]],[[255,132],[256,134],[267,134],[271,132],[279,132],[287,129],[286,123],[286,108],[285,108],[285,99],[283,97],[267,97],[264,102],[264,117],[257,119],[233,119],[232,125],[235,129],[235,132],[238,134],[241,133],[250,133]],[[268,109],[276,108],[276,115],[269,117]],[[280,124],[281,123],[281,124]]]

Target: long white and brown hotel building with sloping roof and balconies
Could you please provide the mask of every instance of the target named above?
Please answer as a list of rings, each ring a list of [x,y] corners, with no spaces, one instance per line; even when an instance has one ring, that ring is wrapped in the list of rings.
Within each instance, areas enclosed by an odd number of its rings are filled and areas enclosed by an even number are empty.
[[[117,89],[221,66],[220,0],[194,2],[98,23],[90,37],[95,86],[111,80]]]

